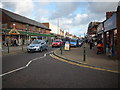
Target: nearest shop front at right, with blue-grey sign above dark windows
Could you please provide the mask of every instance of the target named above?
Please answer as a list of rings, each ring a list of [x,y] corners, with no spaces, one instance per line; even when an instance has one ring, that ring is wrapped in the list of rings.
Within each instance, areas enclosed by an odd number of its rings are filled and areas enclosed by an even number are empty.
[[[116,13],[104,21],[104,47],[107,56],[116,56],[117,45]]]

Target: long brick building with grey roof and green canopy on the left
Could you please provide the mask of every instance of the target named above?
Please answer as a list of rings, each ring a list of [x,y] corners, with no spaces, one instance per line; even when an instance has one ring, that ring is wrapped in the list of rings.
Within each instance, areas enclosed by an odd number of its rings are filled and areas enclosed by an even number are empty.
[[[3,44],[5,44],[7,39],[10,45],[13,39],[17,39],[18,45],[21,45],[23,40],[27,43],[32,37],[41,39],[51,37],[51,29],[43,24],[5,9],[0,9],[0,11],[2,12],[0,17],[2,17]]]

